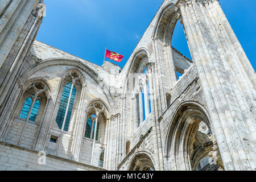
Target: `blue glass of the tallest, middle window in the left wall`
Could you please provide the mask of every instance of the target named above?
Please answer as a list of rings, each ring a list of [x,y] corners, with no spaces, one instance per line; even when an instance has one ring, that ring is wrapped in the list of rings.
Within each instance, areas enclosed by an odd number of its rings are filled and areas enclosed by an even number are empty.
[[[71,87],[72,87],[72,82],[69,82],[67,85],[64,86],[63,93],[61,95],[60,106],[59,106],[59,110],[56,117],[56,123],[59,126],[59,129],[61,129],[63,126],[64,117],[65,117],[65,113],[68,105],[68,98],[71,92]],[[72,93],[71,93],[71,100],[68,106],[68,113],[65,121],[64,131],[68,131],[68,126],[69,126],[69,121],[71,119],[71,113],[72,113],[73,104],[75,101],[75,96],[76,96],[76,88],[75,86],[73,86]]]

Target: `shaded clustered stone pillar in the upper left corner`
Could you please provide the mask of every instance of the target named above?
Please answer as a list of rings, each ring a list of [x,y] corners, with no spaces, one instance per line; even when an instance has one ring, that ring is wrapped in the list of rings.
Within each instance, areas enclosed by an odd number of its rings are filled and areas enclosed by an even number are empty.
[[[11,98],[10,90],[22,72],[24,57],[40,27],[44,8],[38,0],[0,2],[0,112]]]

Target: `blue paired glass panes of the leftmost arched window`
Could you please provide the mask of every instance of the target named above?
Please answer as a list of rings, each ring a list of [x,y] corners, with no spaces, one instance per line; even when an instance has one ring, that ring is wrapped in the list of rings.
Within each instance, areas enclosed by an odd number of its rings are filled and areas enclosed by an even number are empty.
[[[35,97],[35,96],[32,96],[32,97]],[[20,112],[20,115],[19,115],[20,118],[27,119],[28,112],[30,111],[31,105],[32,105],[32,98],[28,97],[24,102],[22,111]],[[34,106],[32,107],[30,118],[28,120],[35,121],[36,115],[38,114],[39,107],[40,107],[40,101],[37,100],[35,101]]]

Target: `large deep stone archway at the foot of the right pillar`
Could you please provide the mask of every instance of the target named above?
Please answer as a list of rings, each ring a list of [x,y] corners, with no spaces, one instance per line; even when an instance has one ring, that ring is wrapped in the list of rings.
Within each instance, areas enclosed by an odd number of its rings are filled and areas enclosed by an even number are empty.
[[[166,141],[171,170],[195,171],[207,156],[214,159],[216,167],[224,169],[208,114],[196,102],[185,102],[177,108]]]

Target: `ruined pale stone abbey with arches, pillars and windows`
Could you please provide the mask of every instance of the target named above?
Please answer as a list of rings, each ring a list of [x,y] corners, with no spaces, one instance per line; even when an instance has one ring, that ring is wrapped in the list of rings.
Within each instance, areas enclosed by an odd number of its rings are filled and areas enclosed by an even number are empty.
[[[165,0],[122,69],[35,40],[45,10],[0,1],[0,170],[256,169],[256,76],[218,0]]]

